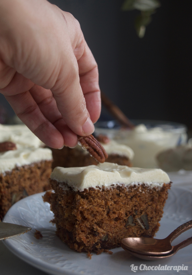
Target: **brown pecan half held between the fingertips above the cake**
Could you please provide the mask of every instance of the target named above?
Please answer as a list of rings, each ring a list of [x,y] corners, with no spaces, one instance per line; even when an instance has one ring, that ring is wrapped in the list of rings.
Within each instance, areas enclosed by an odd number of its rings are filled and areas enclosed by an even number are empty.
[[[95,160],[103,163],[108,158],[108,154],[101,145],[101,143],[94,138],[93,135],[87,137],[77,136],[78,144],[86,151],[90,153]]]

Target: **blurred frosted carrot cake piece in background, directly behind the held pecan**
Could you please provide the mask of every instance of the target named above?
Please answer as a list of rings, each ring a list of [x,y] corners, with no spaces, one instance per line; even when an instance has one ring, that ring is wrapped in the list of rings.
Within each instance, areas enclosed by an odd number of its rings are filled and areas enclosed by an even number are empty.
[[[126,145],[119,144],[116,141],[110,140],[108,137],[99,135],[97,140],[101,143],[108,154],[105,160],[119,165],[132,166],[131,161],[134,157],[133,150]],[[52,168],[61,167],[82,167],[88,165],[97,165],[98,161],[94,159],[80,145],[75,148],[63,147],[61,150],[50,148],[53,153]]]

